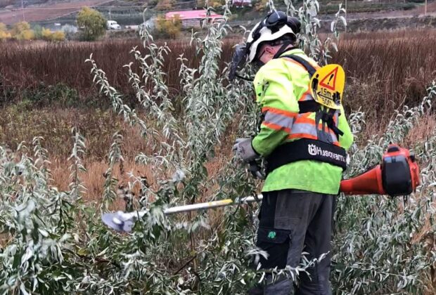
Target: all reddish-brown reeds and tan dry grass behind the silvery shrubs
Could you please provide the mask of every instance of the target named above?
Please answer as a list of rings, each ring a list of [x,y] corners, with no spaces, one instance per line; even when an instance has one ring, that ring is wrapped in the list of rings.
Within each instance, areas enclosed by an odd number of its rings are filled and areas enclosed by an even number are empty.
[[[340,51],[333,54],[333,62],[343,65],[347,73],[345,107],[347,113],[361,108],[368,114],[366,134],[383,130],[395,108],[421,101],[425,87],[436,77],[435,41],[434,30],[348,34],[340,41]],[[235,43],[236,40],[226,41],[221,67],[230,60]],[[110,111],[107,98],[98,95],[89,65],[84,63],[93,53],[110,82],[135,106],[122,65],[132,60],[129,50],[139,45],[136,39],[0,44],[0,143],[16,147],[22,140],[29,143],[33,136],[44,136],[44,146],[51,153],[53,179],[60,189],[65,189],[68,163],[64,159],[72,147],[70,129],[77,126],[88,147],[84,159],[88,169],[85,185],[89,199],[97,200],[101,196],[105,155],[112,133],[122,131],[124,171],[146,175],[153,185],[153,173],[134,164],[136,152],[147,152],[150,147],[139,133]],[[179,62],[176,58],[184,54],[188,64],[195,65],[200,57],[186,41],[171,41],[169,46],[172,53],[164,67],[171,93],[177,100]],[[428,126],[421,125],[412,131],[412,136],[425,137],[430,126],[435,126],[435,117],[430,115],[427,122]],[[210,177],[214,167],[229,158],[230,145],[224,145],[217,152],[216,161],[210,163]],[[125,173],[116,177],[127,180]]]

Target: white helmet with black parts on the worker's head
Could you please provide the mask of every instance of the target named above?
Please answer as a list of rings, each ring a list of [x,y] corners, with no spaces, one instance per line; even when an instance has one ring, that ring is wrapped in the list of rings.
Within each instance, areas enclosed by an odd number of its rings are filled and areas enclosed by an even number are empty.
[[[283,11],[272,11],[264,20],[258,22],[252,28],[247,39],[247,60],[252,63],[256,57],[259,45],[264,41],[274,41],[286,34],[296,37],[300,32],[300,21],[297,18],[288,17]]]

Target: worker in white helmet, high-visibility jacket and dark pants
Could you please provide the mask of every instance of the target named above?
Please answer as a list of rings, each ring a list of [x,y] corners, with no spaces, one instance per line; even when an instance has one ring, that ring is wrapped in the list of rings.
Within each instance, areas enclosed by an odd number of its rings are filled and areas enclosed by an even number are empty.
[[[243,59],[259,67],[253,83],[262,124],[254,138],[238,138],[233,150],[247,163],[267,162],[257,247],[268,255],[259,258],[260,267],[295,268],[302,252],[309,261],[326,257],[295,282],[270,275],[249,294],[331,294],[333,206],[353,136],[342,105],[330,109],[314,100],[309,86],[319,83],[311,83],[319,65],[297,48],[298,32],[297,18],[273,11],[237,48],[236,64]]]

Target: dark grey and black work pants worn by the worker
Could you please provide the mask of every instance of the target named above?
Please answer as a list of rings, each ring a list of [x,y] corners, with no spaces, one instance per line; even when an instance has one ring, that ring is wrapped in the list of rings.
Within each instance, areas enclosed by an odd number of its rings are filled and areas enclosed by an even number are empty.
[[[267,251],[261,258],[261,268],[295,268],[302,252],[306,257],[319,258],[331,249],[331,218],[334,195],[322,195],[302,190],[278,190],[264,193],[259,214],[257,247]],[[287,278],[273,284],[251,289],[249,294],[264,295],[331,295],[331,255],[308,268],[309,276],[300,273],[298,286]]]

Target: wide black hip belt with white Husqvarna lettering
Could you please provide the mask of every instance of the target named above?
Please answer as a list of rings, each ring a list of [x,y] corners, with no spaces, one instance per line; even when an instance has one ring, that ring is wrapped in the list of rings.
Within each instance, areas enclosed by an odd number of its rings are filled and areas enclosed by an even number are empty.
[[[321,140],[301,138],[279,145],[267,158],[267,173],[280,166],[302,160],[325,162],[347,169],[347,152],[343,147]]]

